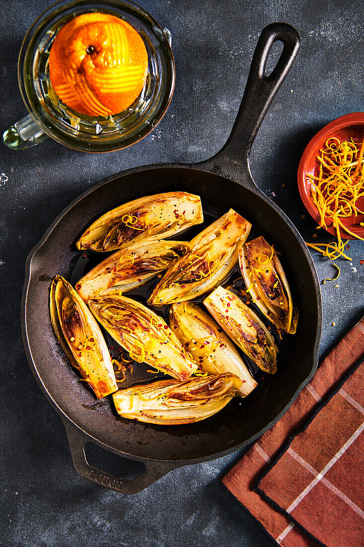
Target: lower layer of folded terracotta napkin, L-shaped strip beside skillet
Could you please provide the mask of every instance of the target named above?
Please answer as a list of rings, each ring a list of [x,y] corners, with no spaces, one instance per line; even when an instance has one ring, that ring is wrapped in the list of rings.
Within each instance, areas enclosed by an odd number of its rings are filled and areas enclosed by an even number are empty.
[[[322,406],[335,386],[364,359],[364,318],[334,347],[320,364],[286,414],[251,446],[225,475],[223,482],[266,531],[284,547],[313,547],[316,542],[266,499],[254,491],[255,484],[271,467],[290,437]],[[364,405],[363,405],[364,406]],[[314,466],[312,466],[314,467]],[[262,486],[262,485],[261,485]],[[344,514],[342,515],[344,519]]]

